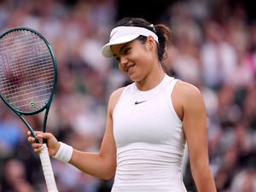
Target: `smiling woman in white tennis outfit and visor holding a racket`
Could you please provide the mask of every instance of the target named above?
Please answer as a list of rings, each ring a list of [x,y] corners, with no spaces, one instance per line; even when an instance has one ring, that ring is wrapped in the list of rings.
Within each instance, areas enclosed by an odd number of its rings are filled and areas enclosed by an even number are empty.
[[[50,133],[49,155],[102,179],[114,177],[112,192],[185,192],[181,174],[188,143],[191,171],[199,192],[216,192],[208,164],[207,115],[195,86],[168,76],[161,65],[170,29],[140,18],[114,26],[102,55],[114,57],[134,82],[113,91],[98,154],[60,143]],[[36,152],[42,144],[28,141]]]

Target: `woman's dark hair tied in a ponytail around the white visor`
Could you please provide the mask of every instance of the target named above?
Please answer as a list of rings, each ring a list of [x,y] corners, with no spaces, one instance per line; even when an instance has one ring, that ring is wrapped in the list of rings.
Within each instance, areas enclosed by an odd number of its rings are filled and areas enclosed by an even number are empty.
[[[144,20],[143,18],[134,18],[134,17],[125,17],[121,20],[118,20],[115,26],[139,26],[146,28],[150,30],[151,32],[154,32],[159,41],[158,49],[157,49],[157,55],[159,61],[162,61],[164,59],[164,55],[166,53],[166,46],[171,44],[172,41],[172,34],[171,34],[171,29],[170,27],[164,25],[164,24],[159,24],[159,25],[152,25],[150,22],[147,20]],[[140,36],[137,38],[138,40],[145,42],[146,37],[145,36]],[[166,70],[166,67],[162,65],[162,67]]]

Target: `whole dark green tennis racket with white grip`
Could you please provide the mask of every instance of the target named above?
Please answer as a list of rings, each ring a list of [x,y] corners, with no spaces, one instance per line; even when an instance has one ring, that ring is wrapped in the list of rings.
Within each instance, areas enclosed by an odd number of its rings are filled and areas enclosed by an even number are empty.
[[[46,131],[56,80],[55,55],[43,35],[27,27],[11,28],[0,35],[0,96],[37,143],[38,137],[23,116],[44,111],[42,131]],[[58,191],[45,141],[39,156],[48,191]]]

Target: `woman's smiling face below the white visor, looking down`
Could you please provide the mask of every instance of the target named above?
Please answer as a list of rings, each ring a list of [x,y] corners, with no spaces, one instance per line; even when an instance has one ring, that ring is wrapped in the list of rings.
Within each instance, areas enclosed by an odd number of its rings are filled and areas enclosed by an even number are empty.
[[[133,40],[125,44],[113,45],[111,49],[119,63],[119,69],[132,81],[143,81],[152,71],[156,57],[154,38],[147,38],[145,44],[139,40]]]

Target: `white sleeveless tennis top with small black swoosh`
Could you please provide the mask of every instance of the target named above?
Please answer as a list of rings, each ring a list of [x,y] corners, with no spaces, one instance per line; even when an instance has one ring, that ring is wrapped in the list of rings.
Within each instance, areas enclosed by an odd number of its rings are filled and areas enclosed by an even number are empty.
[[[154,89],[129,84],[113,110],[117,169],[112,192],[186,192],[181,173],[185,139],[171,94],[177,79]]]

